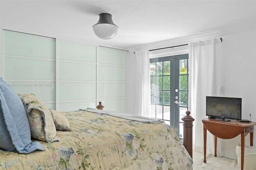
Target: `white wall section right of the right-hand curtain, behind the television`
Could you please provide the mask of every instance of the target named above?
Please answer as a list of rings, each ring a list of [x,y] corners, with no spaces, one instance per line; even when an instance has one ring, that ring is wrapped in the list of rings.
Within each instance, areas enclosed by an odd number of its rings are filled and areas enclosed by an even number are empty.
[[[224,97],[242,98],[242,119],[256,121],[256,31],[240,32],[222,36],[222,60],[220,85]],[[256,127],[255,127],[256,128]],[[250,135],[246,145],[250,145]],[[236,159],[235,148],[241,137],[222,139],[222,156]],[[256,132],[254,132],[256,146]]]

